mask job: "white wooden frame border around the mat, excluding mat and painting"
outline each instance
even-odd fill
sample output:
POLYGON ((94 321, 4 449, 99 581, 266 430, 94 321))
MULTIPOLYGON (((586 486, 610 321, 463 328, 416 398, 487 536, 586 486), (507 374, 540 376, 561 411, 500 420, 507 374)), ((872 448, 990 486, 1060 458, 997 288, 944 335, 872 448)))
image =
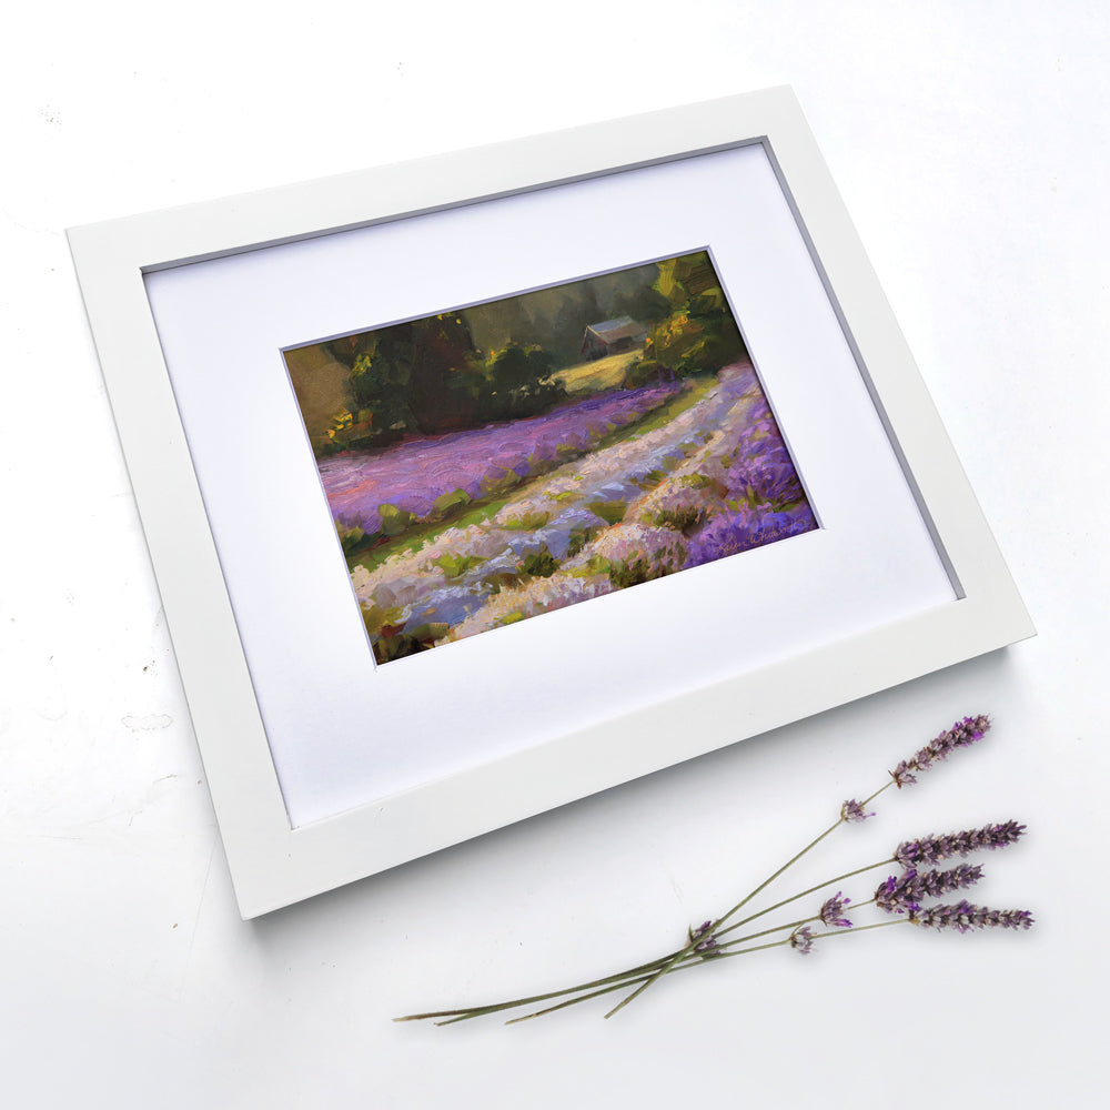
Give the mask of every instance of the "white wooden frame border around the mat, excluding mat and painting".
POLYGON ((244 918, 1035 634, 789 89, 74 228, 68 235, 244 918), (751 142, 765 143, 779 172, 960 599, 291 828, 143 274, 751 142), (703 727, 692 728, 692 720, 703 727), (710 722, 728 722, 727 734, 710 722))

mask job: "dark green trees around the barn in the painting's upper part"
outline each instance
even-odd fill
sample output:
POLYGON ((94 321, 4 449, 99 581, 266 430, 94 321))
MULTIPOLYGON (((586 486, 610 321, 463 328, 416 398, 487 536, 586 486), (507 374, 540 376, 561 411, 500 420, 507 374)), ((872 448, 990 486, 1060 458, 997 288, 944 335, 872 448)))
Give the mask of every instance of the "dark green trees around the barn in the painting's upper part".
POLYGON ((548 412, 583 333, 630 316, 648 332, 622 384, 719 370, 744 343, 705 251, 392 324, 325 344, 350 373, 350 411, 322 452, 371 448, 548 412))

